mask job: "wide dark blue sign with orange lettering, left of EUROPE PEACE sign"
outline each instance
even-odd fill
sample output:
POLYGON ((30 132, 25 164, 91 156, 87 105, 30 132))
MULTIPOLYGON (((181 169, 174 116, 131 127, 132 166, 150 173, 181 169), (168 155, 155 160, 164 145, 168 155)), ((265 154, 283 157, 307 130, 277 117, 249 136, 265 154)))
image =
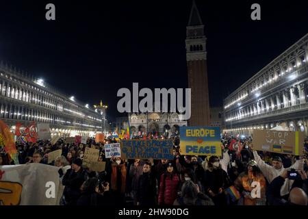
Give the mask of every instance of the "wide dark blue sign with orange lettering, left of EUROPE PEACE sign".
POLYGON ((123 159, 173 159, 172 140, 122 140, 123 159))

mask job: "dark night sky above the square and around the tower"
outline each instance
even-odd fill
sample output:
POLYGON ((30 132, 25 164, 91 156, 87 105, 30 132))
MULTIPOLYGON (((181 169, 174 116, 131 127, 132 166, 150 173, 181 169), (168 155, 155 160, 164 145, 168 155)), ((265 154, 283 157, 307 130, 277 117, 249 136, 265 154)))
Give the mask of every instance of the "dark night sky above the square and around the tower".
MULTIPOLYGON (((116 110, 116 92, 187 88, 192 1, 0 1, 0 60, 84 103, 116 110), (55 4, 56 20, 45 19, 55 4)), ((308 1, 201 1, 211 106, 308 32, 308 1), (214 3, 215 2, 215 3, 214 3), (251 4, 261 21, 251 20, 251 4)))

